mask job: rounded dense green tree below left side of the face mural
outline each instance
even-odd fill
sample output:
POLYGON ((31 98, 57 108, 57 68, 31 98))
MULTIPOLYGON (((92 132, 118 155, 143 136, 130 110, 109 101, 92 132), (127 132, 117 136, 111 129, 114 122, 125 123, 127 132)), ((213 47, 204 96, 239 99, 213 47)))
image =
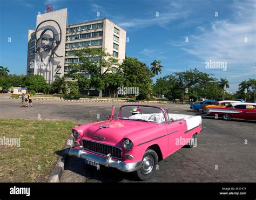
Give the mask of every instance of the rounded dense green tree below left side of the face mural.
POLYGON ((25 81, 25 86, 28 87, 29 91, 35 92, 44 92, 45 88, 48 87, 42 75, 30 75, 25 81))

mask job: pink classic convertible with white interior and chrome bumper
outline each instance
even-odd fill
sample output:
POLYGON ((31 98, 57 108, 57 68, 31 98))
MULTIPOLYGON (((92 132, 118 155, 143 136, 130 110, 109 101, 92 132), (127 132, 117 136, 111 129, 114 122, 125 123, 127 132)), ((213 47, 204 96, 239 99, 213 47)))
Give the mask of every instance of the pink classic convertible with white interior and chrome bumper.
POLYGON ((157 106, 122 106, 117 119, 113 115, 114 106, 108 120, 73 128, 75 147, 69 155, 147 180, 157 170, 158 161, 183 146, 196 146, 201 132, 201 116, 172 114, 157 106))

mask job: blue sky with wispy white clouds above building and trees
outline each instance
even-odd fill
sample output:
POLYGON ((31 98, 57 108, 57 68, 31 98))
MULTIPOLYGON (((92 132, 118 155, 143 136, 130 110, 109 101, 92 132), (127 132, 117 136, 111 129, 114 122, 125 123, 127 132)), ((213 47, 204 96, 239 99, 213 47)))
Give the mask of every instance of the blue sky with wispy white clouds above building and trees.
POLYGON ((147 66, 161 60, 164 68, 154 81, 197 68, 227 78, 227 90, 235 92, 239 82, 256 78, 255 1, 250 0, 2 0, 0 65, 10 74, 26 74, 28 30, 36 28, 36 15, 46 4, 68 8, 68 24, 109 18, 122 26, 126 56, 147 66), (216 63, 221 68, 214 68, 216 63))

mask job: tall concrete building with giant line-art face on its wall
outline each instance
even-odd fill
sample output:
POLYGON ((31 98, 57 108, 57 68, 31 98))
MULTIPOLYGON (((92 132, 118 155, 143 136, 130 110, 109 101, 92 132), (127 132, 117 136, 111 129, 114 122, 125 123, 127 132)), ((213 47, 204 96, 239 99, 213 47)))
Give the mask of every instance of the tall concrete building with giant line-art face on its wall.
POLYGON ((68 25, 68 9, 61 9, 37 15, 36 27, 29 30, 27 75, 43 75, 47 82, 79 63, 75 50, 85 46, 103 48, 119 63, 125 58, 126 31, 109 19, 68 25))

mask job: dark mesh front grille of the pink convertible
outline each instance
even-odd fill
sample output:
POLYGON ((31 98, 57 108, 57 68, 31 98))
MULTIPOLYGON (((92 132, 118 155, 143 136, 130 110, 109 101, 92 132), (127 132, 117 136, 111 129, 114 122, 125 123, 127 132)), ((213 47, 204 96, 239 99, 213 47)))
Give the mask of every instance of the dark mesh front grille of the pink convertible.
POLYGON ((92 151, 94 153, 102 155, 111 154, 113 158, 122 158, 122 149, 119 147, 114 147, 108 144, 93 142, 89 140, 83 140, 83 146, 86 150, 92 151))

